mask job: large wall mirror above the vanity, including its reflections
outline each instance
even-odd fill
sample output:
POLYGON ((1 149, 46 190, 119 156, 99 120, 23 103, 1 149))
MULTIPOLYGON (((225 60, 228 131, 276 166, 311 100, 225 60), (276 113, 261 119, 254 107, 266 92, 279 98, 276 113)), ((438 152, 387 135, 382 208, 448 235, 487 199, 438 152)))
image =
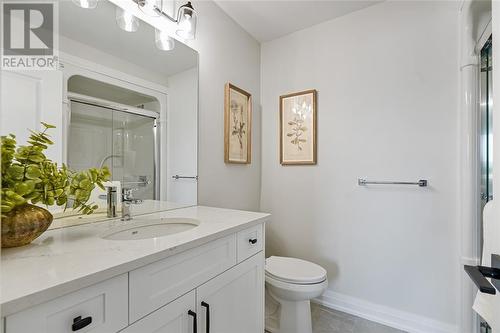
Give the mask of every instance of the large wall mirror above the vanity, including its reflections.
MULTIPOLYGON (((116 218, 122 189, 132 215, 197 204, 198 54, 177 40, 158 47, 155 29, 129 16, 109 1, 62 1, 60 70, 2 75, 2 135, 22 143, 26 128, 56 125, 47 156, 76 171, 107 166, 116 218)), ((91 201, 90 216, 51 207, 52 227, 108 218, 106 190, 91 201)))

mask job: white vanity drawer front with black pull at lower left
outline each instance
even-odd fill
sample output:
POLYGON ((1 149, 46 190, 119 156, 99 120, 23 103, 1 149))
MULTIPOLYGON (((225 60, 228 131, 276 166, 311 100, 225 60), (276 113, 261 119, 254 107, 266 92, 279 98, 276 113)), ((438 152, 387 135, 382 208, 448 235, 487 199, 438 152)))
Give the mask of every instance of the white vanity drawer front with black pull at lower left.
POLYGON ((128 324, 127 282, 123 274, 10 315, 5 333, 117 332, 128 324))

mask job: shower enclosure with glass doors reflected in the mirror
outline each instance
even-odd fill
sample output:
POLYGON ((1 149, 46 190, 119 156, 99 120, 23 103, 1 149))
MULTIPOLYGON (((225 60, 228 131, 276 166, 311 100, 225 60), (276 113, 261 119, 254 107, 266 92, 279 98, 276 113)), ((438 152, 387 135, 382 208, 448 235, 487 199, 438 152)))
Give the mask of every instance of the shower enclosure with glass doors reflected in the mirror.
POLYGON ((68 80, 68 97, 68 166, 77 171, 106 166, 111 181, 136 188, 143 200, 159 200, 159 101, 79 75, 68 80))

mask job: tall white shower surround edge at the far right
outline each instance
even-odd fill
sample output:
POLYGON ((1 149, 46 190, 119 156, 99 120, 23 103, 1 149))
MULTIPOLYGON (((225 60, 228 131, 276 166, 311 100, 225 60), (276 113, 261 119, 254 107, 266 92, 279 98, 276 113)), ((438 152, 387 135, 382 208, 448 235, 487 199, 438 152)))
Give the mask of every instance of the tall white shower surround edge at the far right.
POLYGON ((460 171, 457 177, 460 203, 460 332, 479 332, 479 316, 472 310, 477 288, 463 265, 480 264, 480 161, 479 70, 481 49, 492 33, 491 2, 462 0, 460 4, 460 171))

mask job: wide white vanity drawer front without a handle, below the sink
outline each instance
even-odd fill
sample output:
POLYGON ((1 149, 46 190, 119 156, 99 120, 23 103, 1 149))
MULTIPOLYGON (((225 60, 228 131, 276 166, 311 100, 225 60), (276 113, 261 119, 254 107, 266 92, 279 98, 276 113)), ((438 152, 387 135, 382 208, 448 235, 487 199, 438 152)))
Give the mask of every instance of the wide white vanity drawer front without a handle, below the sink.
POLYGON ((131 271, 130 323, 234 265, 236 237, 230 235, 131 271))

